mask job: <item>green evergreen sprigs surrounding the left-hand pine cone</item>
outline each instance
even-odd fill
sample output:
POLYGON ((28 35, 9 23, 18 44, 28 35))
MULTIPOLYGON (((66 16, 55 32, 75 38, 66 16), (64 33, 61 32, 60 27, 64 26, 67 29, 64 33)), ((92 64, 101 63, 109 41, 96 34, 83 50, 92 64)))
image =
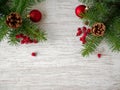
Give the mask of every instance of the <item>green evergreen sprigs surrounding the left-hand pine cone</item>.
POLYGON ((44 0, 0 0, 0 41, 7 37, 11 45, 16 45, 20 42, 16 38, 18 34, 24 34, 37 41, 46 40, 46 33, 26 17, 31 7, 42 1, 44 0), (14 29, 7 26, 6 17, 11 12, 22 16, 21 27, 14 29))

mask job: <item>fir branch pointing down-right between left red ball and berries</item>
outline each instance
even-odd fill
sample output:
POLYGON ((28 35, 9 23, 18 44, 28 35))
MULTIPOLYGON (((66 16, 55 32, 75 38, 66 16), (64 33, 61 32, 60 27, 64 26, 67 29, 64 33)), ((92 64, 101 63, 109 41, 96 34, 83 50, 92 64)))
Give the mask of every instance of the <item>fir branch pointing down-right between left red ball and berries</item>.
POLYGON ((29 36, 31 39, 36 39, 38 41, 46 40, 45 32, 39 29, 36 24, 33 24, 27 19, 23 21, 23 25, 20 28, 20 32, 29 36))

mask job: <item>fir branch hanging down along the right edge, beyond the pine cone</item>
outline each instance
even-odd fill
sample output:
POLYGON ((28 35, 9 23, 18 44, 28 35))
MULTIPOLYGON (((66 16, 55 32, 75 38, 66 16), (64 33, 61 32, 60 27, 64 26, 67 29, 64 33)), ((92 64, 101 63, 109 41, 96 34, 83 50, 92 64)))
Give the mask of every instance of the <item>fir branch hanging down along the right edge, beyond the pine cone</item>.
POLYGON ((112 51, 120 51, 120 17, 114 17, 109 24, 106 40, 112 51))

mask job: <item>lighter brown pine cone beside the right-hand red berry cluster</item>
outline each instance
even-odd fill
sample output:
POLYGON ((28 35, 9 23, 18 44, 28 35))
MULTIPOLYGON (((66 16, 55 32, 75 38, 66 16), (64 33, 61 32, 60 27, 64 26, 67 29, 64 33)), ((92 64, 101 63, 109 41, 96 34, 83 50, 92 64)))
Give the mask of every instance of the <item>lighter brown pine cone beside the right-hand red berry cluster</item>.
POLYGON ((106 29, 106 27, 105 27, 105 25, 103 23, 95 23, 92 26, 91 33, 94 36, 103 36, 104 32, 105 32, 105 29, 106 29))

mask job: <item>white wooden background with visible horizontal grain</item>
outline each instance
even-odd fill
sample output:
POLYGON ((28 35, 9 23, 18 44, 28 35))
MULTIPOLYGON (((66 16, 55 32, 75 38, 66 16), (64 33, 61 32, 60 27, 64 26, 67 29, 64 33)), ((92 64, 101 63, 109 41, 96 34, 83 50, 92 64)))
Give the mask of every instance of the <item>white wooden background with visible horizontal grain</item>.
POLYGON ((0 43, 0 90, 120 90, 120 53, 111 53, 104 42, 104 56, 83 58, 75 36, 82 27, 74 14, 77 0, 46 0, 33 8, 44 13, 39 25, 48 41, 10 46, 0 43), (31 52, 37 52, 32 57, 31 52))

